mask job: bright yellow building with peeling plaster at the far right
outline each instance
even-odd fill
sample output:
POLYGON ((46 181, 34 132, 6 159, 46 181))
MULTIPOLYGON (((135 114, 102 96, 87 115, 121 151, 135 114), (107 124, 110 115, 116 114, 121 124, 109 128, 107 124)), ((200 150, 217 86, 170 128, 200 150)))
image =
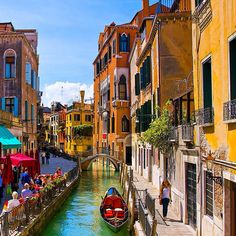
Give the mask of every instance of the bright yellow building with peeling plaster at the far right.
POLYGON ((196 133, 203 165, 204 235, 236 234, 236 1, 192 0, 196 133), (223 183, 217 183, 217 179, 223 183), (233 209, 233 210, 231 210, 233 209))

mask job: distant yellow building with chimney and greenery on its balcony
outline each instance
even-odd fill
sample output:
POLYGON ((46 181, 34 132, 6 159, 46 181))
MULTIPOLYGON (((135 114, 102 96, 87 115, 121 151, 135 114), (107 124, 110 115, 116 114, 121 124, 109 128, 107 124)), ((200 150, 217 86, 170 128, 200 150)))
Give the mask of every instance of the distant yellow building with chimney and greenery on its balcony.
POLYGON ((81 101, 74 102, 66 113, 66 145, 69 155, 88 156, 93 146, 93 105, 84 103, 84 91, 80 91, 81 101))

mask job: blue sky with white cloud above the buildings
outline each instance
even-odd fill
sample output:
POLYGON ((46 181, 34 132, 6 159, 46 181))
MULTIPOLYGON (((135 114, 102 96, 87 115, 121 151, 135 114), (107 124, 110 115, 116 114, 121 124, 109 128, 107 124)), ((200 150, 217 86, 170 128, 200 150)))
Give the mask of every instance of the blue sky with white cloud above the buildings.
MULTIPOLYGON (((149 0, 150 4, 157 0, 149 0)), ((37 29, 44 106, 93 97, 93 60, 105 25, 129 22, 142 0, 11 0, 1 2, 0 22, 37 29)))

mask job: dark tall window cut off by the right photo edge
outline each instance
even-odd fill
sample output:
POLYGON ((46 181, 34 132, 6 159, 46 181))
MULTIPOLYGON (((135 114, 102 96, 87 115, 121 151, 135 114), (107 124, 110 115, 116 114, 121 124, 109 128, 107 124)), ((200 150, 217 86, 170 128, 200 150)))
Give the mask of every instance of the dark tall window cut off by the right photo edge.
POLYGON ((230 55, 230 100, 236 99, 236 38, 229 43, 230 55))

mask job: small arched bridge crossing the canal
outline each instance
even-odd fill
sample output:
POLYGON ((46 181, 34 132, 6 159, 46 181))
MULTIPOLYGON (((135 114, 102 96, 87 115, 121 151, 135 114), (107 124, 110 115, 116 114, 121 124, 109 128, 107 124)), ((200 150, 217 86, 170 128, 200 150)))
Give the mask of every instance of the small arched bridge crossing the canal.
POLYGON ((88 170, 90 164, 92 162, 94 162, 95 160, 98 160, 99 158, 104 158, 104 159, 109 160, 111 162, 111 164, 113 164, 115 170, 116 171, 119 170, 121 161, 118 160, 117 158, 114 158, 113 156, 110 156, 109 154, 106 154, 106 153, 95 154, 93 156, 89 156, 89 157, 86 157, 83 160, 81 160, 82 170, 88 170))

